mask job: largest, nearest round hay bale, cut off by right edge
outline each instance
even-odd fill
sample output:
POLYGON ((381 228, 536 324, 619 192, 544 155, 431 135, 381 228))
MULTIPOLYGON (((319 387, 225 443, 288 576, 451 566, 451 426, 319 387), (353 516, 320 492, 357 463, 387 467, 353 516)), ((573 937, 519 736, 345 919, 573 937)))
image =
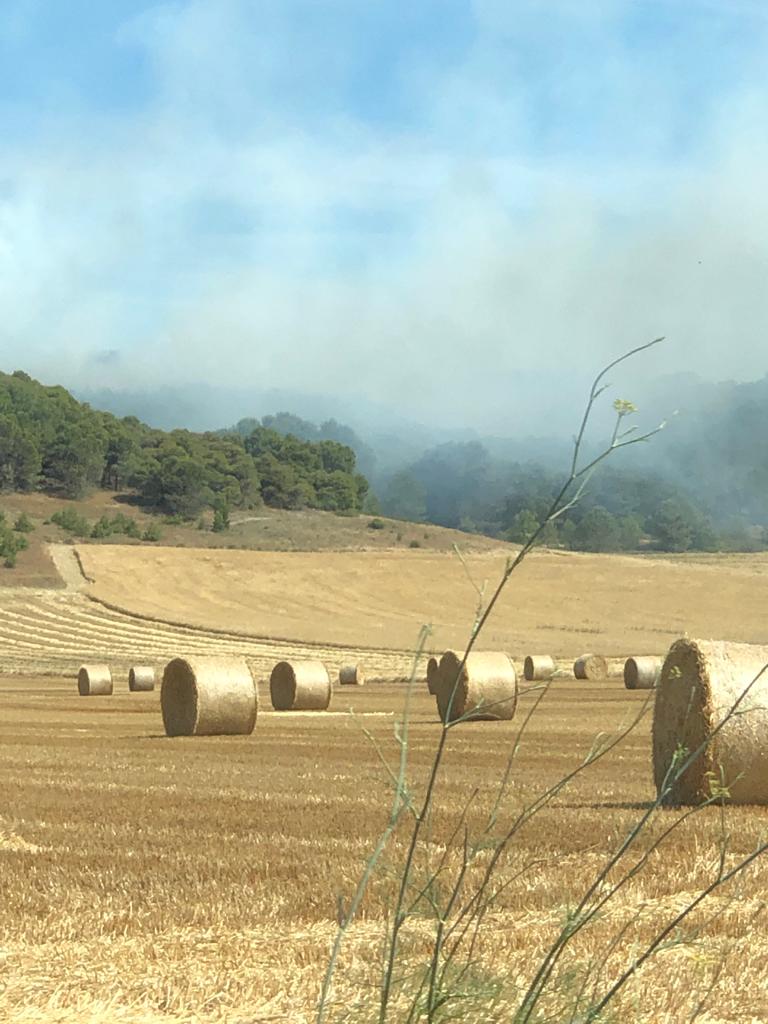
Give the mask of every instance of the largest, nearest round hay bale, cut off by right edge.
POLYGON ((653 709, 657 793, 665 787, 676 751, 702 751, 672 783, 665 803, 700 803, 713 794, 713 784, 722 782, 731 803, 768 804, 768 672, 715 731, 766 664, 768 647, 688 639, 672 645, 653 709))

